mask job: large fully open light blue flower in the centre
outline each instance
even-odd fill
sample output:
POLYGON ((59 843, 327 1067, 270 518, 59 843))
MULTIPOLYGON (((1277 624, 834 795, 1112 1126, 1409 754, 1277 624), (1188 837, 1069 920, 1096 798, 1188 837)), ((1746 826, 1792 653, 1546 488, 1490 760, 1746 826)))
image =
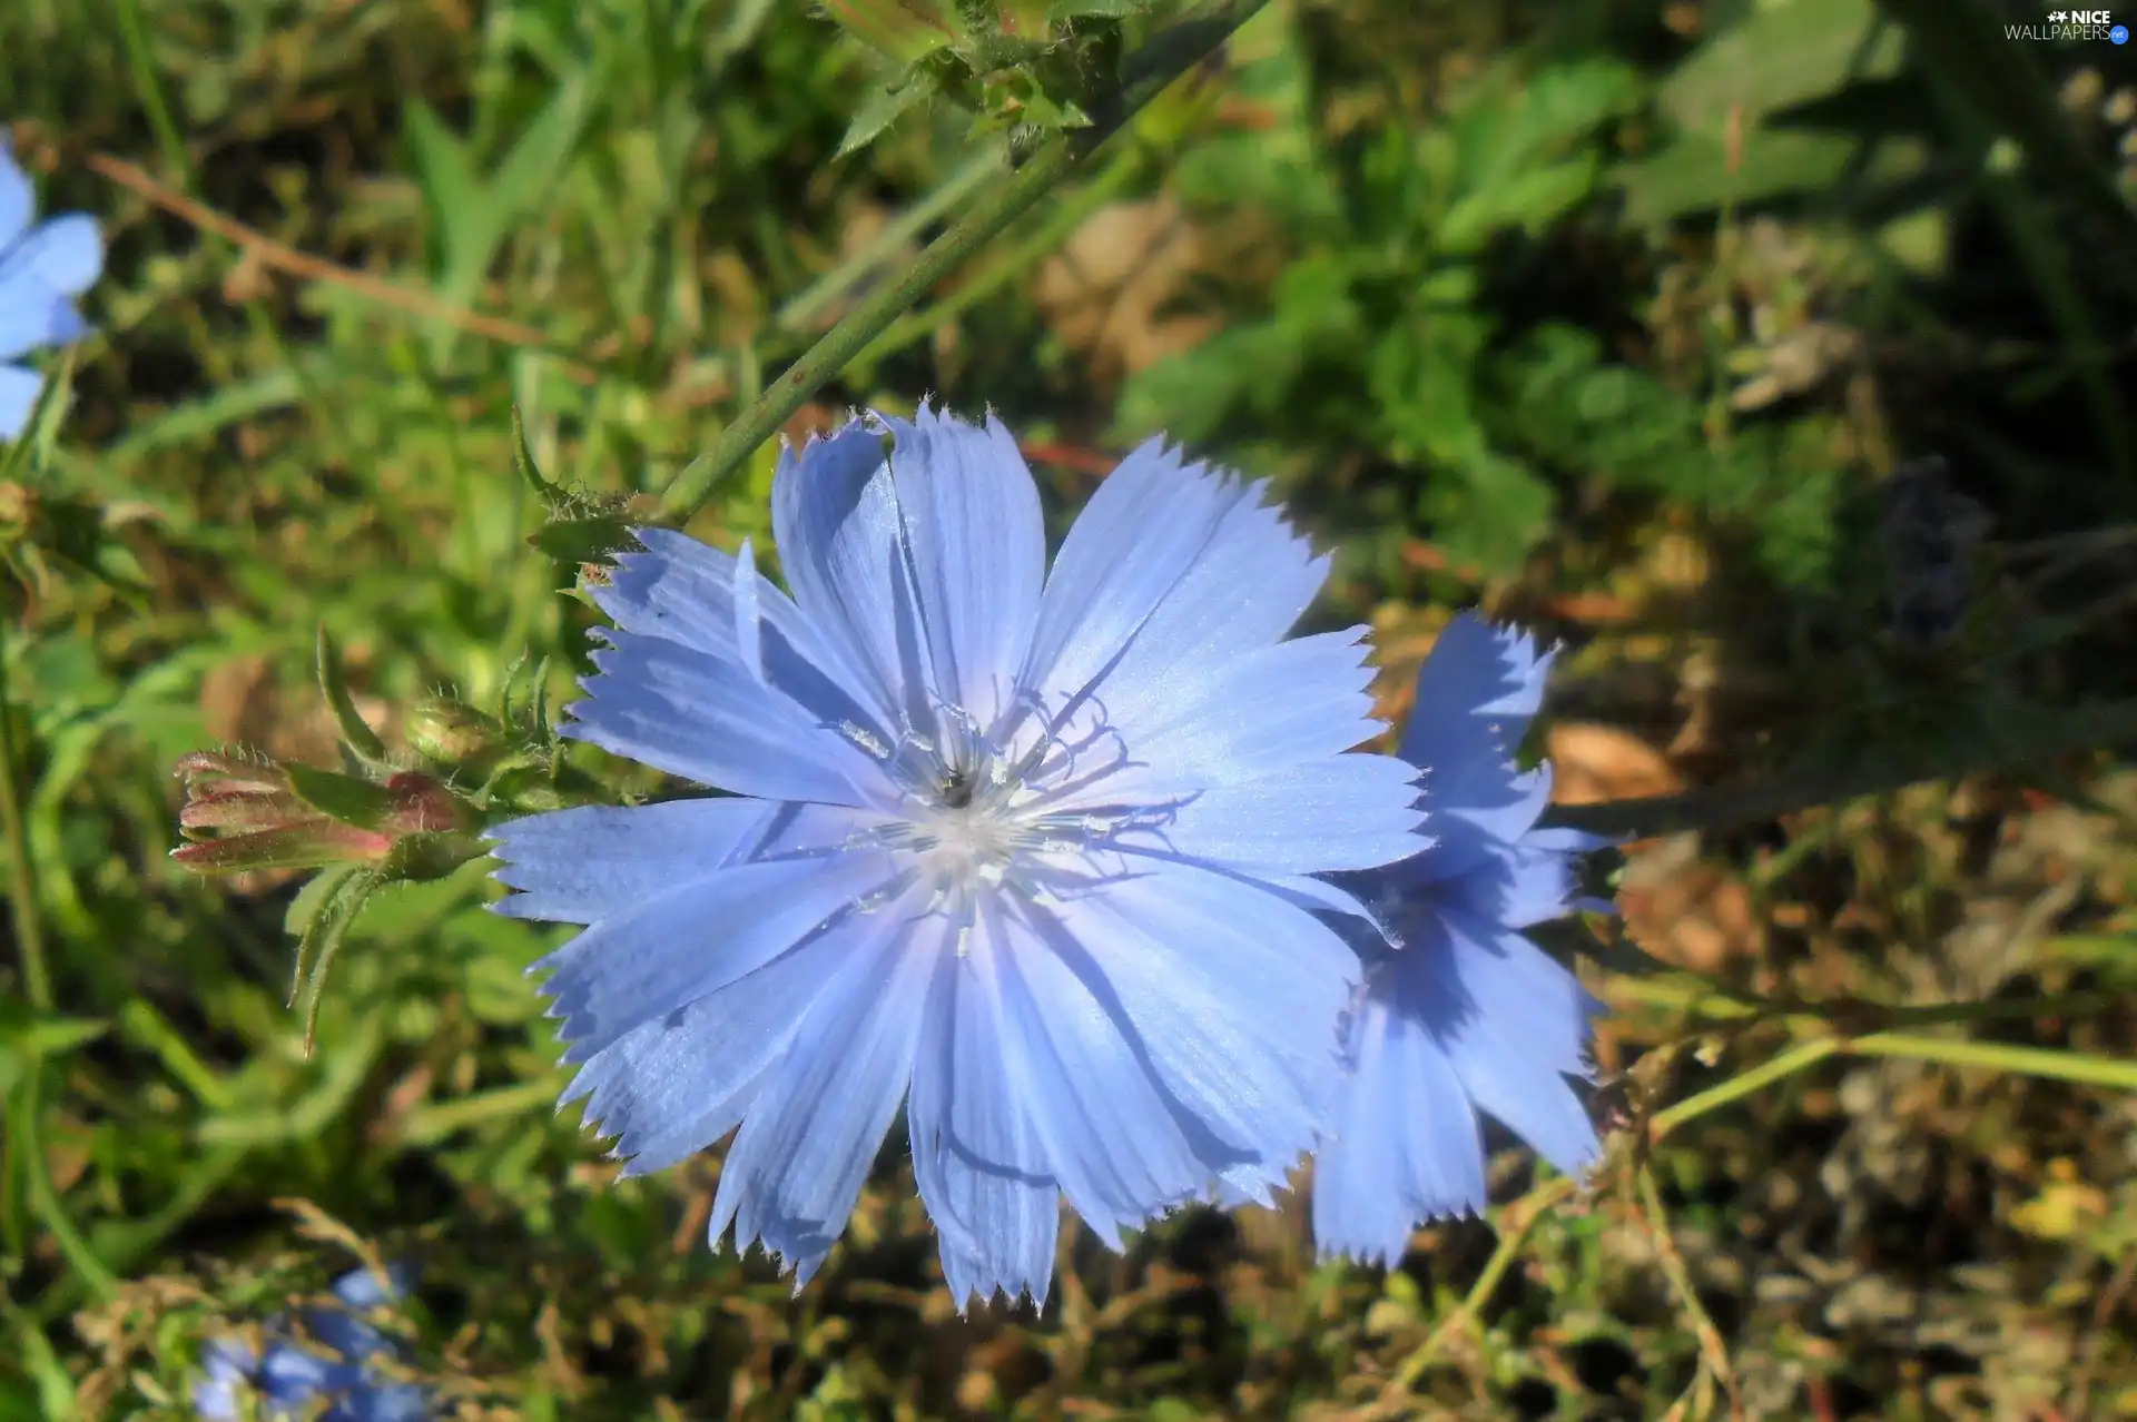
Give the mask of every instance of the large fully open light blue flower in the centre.
POLYGON ((789 598, 643 530, 566 730, 733 799, 494 831, 551 974, 566 1100, 628 1174, 742 1127, 712 1238, 797 1287, 900 1106, 960 1307, 1045 1300, 1060 1198, 1107 1245, 1265 1200, 1327 1121, 1357 957, 1314 873, 1415 850, 1361 630, 1261 485, 1128 455, 1047 574, 1000 423, 930 410, 789 451, 789 598), (885 438, 893 442, 885 451, 885 438))

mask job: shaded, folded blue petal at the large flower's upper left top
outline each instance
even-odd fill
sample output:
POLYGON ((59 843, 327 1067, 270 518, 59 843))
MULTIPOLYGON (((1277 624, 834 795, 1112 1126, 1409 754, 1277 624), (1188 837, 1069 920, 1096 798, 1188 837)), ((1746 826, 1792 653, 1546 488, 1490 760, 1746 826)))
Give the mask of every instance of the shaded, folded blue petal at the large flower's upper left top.
POLYGON ((902 523, 874 427, 853 423, 780 455, 771 532, 795 604, 883 724, 927 726, 934 681, 902 523))

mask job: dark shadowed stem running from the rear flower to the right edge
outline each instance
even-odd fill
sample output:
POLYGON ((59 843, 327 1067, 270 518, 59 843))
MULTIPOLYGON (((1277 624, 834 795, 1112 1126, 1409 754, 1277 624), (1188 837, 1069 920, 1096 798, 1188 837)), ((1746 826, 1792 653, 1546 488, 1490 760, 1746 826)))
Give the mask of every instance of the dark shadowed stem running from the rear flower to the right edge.
POLYGON ((1588 831, 1605 839, 1654 839, 1688 831, 1727 828, 1774 820, 1816 805, 1838 805, 1872 794, 1893 794, 1932 779, 1953 779, 2032 760, 2054 760, 2071 752, 2137 741, 2137 700, 2111 700, 2075 711, 2043 711, 2022 741, 1990 747, 1975 764, 1951 764, 1936 747, 1891 747, 1874 764, 1853 764, 1799 779, 1759 786, 1652 794, 1603 805, 1558 805, 1543 822, 1588 831))

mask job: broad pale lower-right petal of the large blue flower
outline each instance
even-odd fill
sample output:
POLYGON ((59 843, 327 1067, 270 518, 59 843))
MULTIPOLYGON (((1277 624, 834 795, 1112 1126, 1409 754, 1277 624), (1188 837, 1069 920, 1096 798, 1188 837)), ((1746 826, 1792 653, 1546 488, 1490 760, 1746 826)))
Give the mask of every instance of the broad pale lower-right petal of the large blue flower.
MULTIPOLYGON (((1192 867, 1109 882, 1054 914, 1088 954, 1064 961, 1184 1123, 1199 1183, 1280 1187, 1329 1125, 1351 948, 1306 910, 1192 867)), ((1143 1129, 1126 1100, 1111 1104, 1143 1129)))

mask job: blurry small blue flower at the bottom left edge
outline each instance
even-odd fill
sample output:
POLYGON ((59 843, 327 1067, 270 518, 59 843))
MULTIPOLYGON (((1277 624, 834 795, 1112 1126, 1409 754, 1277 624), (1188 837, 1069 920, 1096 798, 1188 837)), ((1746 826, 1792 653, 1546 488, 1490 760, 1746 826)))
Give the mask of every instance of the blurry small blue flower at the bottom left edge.
POLYGON ((267 1324, 265 1356, 241 1339, 216 1339, 201 1356, 207 1375, 192 1388, 194 1411, 214 1422, 312 1418, 314 1401, 325 1401, 318 1422, 430 1418, 423 1388, 380 1377, 376 1360, 389 1358, 393 1345, 361 1317, 406 1292, 406 1270, 393 1268, 380 1285, 378 1275, 359 1268, 333 1285, 340 1309, 303 1309, 297 1315, 306 1343, 291 1339, 280 1320, 267 1324), (246 1413, 246 1399, 256 1399, 256 1413, 246 1413))

